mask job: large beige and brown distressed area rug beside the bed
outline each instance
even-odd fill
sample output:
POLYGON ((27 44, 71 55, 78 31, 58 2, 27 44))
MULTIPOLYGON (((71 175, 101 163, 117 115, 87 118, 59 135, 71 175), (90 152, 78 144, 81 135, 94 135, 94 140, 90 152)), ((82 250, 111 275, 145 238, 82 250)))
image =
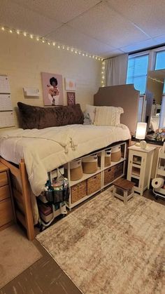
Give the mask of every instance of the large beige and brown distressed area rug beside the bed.
POLYGON ((37 236, 87 294, 165 293, 165 206, 102 192, 37 236))

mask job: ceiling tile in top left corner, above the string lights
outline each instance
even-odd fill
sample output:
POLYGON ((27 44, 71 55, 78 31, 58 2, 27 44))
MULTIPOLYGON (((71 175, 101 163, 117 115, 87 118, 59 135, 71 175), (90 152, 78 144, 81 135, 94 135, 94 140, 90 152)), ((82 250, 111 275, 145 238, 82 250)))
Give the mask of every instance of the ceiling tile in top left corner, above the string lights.
POLYGON ((25 30, 31 34, 44 36, 62 24, 45 18, 38 13, 22 8, 12 0, 1 0, 0 23, 13 29, 25 30))

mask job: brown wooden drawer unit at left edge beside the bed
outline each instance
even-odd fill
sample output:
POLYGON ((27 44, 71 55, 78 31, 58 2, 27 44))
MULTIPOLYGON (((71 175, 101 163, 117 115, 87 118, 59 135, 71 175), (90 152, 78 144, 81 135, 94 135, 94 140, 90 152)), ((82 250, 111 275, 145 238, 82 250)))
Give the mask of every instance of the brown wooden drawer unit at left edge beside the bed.
POLYGON ((0 163, 0 230, 15 220, 15 211, 10 187, 9 169, 0 163))

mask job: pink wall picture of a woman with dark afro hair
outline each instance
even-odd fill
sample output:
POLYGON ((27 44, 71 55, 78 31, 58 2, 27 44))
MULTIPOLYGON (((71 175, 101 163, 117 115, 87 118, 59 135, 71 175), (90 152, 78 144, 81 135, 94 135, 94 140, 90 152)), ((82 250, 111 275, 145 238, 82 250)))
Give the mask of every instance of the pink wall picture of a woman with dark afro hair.
POLYGON ((43 102, 45 106, 64 105, 62 75, 41 72, 43 102))

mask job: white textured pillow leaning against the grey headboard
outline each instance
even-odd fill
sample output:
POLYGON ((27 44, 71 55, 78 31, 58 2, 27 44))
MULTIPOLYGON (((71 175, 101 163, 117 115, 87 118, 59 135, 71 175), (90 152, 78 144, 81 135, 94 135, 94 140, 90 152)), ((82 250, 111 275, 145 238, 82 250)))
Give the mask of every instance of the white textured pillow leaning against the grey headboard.
POLYGON ((94 125, 96 126, 119 126, 120 114, 124 113, 122 107, 100 106, 96 107, 94 125))

